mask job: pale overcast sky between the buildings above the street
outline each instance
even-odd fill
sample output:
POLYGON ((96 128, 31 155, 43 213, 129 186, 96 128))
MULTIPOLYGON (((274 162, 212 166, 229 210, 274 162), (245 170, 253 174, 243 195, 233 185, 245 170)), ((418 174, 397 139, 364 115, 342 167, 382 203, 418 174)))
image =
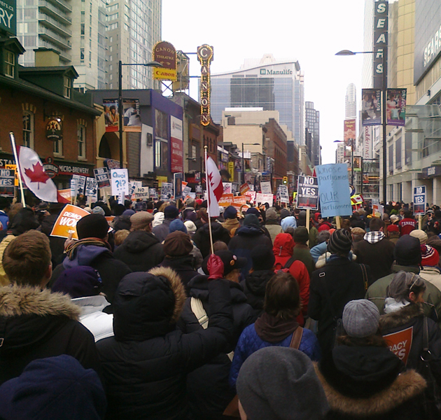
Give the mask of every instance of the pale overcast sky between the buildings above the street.
MULTIPOLYGON (((363 55, 336 57, 339 50, 363 51, 363 0, 162 0, 162 39, 177 50, 214 47, 211 71, 239 69, 245 58, 270 52, 298 59, 304 99, 320 111, 323 163, 335 162, 334 140, 343 137, 344 96, 349 83, 361 93, 363 55)), ((193 58, 190 74, 200 74, 193 58)), ((197 99, 197 79, 190 95, 197 99)), ((357 104, 358 106, 359 104, 357 104)))

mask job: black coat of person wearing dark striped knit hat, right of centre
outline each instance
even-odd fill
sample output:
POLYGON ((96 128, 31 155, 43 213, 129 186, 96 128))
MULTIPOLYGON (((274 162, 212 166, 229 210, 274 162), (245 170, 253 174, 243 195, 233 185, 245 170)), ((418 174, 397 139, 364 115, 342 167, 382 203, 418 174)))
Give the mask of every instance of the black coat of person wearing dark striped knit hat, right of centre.
MULTIPOLYGON (((365 268, 367 282, 372 284, 370 267, 365 268)), ((365 293, 362 267, 348 258, 332 255, 325 267, 312 273, 308 315, 318 321, 318 342, 323 354, 332 350, 344 305, 350 300, 363 299, 365 293)))

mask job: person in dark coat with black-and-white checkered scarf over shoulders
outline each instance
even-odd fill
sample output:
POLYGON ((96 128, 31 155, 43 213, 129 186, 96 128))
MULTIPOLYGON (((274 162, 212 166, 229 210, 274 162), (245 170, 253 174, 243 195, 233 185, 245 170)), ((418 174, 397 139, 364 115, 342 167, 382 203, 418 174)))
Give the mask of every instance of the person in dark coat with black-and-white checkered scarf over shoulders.
POLYGON ((395 245, 383 233, 384 221, 374 217, 369 223, 362 241, 353 244, 353 252, 357 255, 359 264, 370 266, 374 280, 391 274, 393 264, 393 248, 395 245))

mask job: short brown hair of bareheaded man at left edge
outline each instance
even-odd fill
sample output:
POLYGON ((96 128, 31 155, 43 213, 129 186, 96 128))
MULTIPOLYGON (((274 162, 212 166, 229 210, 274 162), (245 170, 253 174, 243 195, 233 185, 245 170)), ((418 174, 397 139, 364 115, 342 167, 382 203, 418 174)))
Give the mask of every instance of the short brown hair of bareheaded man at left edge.
POLYGON ((10 281, 38 286, 48 272, 51 258, 48 237, 38 230, 29 230, 6 246, 3 269, 10 281))

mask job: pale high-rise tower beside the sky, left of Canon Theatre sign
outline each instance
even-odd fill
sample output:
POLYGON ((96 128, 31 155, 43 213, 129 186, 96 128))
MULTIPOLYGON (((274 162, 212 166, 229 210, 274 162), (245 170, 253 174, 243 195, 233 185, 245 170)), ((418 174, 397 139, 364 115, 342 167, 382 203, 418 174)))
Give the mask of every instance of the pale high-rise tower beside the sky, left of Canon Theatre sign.
MULTIPOLYGON (((118 87, 118 62, 142 64, 152 61, 155 43, 161 38, 162 0, 116 0, 107 4, 107 60, 109 87, 118 87)), ((152 68, 123 67, 123 89, 158 87, 152 68)))

